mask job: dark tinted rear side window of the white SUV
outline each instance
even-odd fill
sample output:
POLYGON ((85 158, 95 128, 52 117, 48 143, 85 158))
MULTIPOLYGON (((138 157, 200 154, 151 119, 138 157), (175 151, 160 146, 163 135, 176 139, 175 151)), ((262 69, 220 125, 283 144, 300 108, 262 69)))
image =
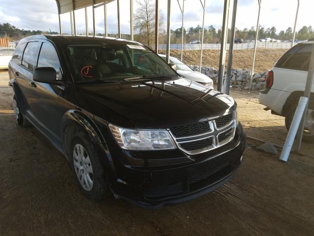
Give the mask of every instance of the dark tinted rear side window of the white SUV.
POLYGON ((286 52, 276 63, 275 67, 308 71, 313 44, 297 44, 286 52))

